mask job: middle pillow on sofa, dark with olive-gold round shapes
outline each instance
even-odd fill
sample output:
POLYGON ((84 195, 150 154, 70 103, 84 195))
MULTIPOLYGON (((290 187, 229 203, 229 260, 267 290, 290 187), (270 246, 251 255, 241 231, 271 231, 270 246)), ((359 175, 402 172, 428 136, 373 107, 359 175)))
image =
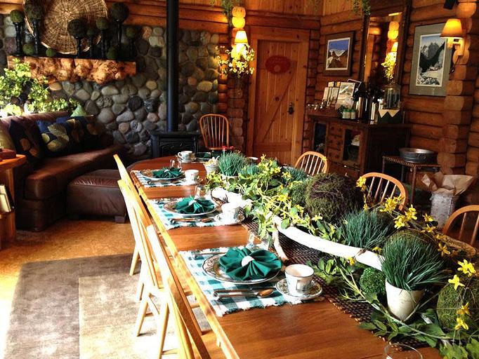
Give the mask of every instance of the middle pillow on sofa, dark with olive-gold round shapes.
POLYGON ((64 123, 37 121, 37 125, 48 156, 63 156, 70 153, 70 135, 64 123))

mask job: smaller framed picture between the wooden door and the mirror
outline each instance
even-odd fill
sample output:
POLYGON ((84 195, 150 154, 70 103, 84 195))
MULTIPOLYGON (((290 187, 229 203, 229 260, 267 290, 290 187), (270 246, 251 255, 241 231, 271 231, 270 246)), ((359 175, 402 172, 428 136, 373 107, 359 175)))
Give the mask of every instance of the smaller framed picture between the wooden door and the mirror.
POLYGON ((354 32, 334 34, 326 37, 324 74, 344 75, 351 73, 354 32))

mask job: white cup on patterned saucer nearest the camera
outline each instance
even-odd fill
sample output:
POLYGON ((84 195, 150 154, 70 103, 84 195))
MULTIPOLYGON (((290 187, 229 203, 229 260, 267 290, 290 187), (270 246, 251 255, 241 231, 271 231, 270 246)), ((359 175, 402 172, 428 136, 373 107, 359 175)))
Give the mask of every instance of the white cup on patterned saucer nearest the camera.
POLYGON ((284 271, 286 278, 276 283, 276 289, 289 299, 310 300, 322 294, 322 286, 313 280, 314 271, 305 264, 291 264, 284 271))

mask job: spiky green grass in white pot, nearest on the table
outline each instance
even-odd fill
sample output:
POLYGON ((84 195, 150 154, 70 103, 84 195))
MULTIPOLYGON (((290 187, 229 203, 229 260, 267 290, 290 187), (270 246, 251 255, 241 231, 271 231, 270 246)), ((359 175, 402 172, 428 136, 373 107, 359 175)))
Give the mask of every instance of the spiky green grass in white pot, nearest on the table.
POLYGON ((428 287, 444 280, 444 262, 435 245, 419 231, 393 234, 384 245, 381 270, 386 276, 388 310, 400 320, 407 320, 428 287))

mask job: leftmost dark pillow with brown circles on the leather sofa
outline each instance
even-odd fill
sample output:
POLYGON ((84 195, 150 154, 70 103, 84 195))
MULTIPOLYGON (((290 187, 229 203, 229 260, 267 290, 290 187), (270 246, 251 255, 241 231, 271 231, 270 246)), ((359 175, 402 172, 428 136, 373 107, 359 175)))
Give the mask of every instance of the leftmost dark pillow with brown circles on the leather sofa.
POLYGON ((36 126, 28 126, 27 121, 22 121, 20 118, 12 118, 8 132, 10 133, 15 149, 18 154, 27 156, 29 163, 34 168, 41 165, 43 159, 43 151, 41 151, 41 137, 36 126))

